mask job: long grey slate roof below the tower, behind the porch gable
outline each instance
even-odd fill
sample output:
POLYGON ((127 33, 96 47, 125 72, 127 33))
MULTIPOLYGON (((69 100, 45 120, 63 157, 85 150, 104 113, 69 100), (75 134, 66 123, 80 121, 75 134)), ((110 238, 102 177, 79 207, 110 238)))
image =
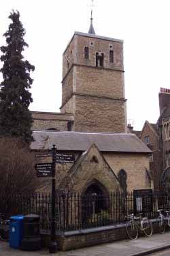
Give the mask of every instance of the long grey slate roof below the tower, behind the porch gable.
POLYGON ((33 131, 33 138, 32 150, 48 150, 55 143, 61 151, 86 151, 95 143, 102 152, 152 152, 135 134, 127 133, 33 131))

